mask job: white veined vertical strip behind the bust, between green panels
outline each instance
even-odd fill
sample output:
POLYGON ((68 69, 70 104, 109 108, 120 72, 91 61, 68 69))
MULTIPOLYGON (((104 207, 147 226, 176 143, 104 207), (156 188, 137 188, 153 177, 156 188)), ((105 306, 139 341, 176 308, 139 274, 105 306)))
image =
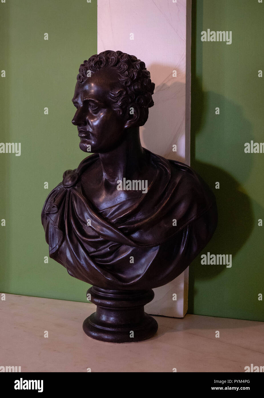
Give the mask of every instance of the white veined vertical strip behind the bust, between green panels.
MULTIPOLYGON (((154 107, 141 127, 142 145, 189 164, 191 0, 98 0, 97 4, 98 53, 120 50, 135 55, 145 62, 156 85, 154 107), (177 152, 173 151, 175 144, 177 152)), ((186 269, 168 285, 154 289, 155 298, 145 306, 146 311, 183 317, 188 274, 186 269)))

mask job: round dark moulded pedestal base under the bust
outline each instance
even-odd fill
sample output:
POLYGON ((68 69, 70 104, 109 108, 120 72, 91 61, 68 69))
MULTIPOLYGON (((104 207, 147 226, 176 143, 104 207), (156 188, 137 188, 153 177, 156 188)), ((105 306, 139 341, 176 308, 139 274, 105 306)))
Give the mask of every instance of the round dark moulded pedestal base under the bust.
POLYGON ((144 305, 154 298, 152 290, 117 291, 93 286, 88 294, 96 312, 83 322, 87 336, 109 343, 133 343, 157 332, 156 320, 144 312, 144 305))

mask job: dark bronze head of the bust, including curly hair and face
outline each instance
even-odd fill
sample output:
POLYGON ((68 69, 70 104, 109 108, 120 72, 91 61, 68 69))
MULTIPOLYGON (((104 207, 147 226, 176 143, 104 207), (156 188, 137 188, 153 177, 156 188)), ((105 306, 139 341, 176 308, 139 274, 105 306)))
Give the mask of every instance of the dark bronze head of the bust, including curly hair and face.
POLYGON ((104 153, 124 139, 125 130, 143 126, 154 105, 155 84, 145 63, 121 51, 92 55, 79 68, 72 123, 78 126, 81 150, 104 153))

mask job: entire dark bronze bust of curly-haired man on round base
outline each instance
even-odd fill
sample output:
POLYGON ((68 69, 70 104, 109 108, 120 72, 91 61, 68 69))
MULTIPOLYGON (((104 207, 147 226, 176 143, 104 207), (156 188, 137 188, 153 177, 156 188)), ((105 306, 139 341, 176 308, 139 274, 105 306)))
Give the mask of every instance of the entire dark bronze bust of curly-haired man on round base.
POLYGON ((103 341, 156 333, 144 312, 151 289, 182 273, 217 225, 216 200, 202 178, 141 146, 154 87, 145 63, 121 51, 81 64, 72 123, 81 150, 93 154, 64 172, 42 209, 50 257, 93 285, 87 293, 97 310, 83 329, 103 341))

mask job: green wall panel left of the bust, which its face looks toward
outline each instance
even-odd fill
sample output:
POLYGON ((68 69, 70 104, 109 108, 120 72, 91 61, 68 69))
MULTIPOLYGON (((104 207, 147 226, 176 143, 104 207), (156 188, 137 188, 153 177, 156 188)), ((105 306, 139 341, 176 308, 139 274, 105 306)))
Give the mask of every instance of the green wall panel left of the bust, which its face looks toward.
POLYGON ((0 291, 85 301, 86 283, 50 258, 44 263, 40 213, 63 172, 84 157, 71 98, 79 65, 97 53, 97 4, 6 0, 0 18, 0 142, 21 142, 21 156, 0 154, 0 291))

